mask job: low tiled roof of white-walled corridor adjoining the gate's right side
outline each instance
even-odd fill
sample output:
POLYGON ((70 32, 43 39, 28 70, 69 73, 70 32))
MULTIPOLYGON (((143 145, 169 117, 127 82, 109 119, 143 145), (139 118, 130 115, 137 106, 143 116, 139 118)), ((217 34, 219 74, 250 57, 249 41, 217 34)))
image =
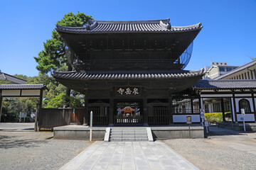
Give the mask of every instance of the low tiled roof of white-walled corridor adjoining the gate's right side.
POLYGON ((256 80, 199 80, 193 89, 256 89, 256 80))

